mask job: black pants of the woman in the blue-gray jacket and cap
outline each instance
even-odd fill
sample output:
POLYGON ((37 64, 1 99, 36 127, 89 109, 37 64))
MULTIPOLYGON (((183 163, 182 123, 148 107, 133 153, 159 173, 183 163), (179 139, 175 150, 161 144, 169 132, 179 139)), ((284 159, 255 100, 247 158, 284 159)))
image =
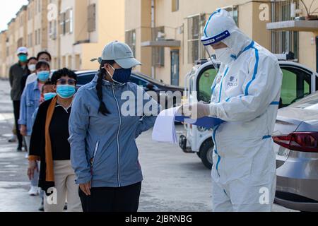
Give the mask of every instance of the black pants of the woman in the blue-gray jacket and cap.
POLYGON ((141 182, 119 188, 90 189, 90 196, 79 189, 83 212, 137 212, 141 182))

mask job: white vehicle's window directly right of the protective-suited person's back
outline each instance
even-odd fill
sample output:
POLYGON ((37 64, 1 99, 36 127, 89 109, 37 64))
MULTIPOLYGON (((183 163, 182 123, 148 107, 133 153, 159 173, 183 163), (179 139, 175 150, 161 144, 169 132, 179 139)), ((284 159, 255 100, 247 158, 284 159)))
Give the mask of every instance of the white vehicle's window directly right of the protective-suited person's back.
POLYGON ((287 107, 302 97, 310 95, 310 73, 292 67, 282 67, 281 71, 283 72, 283 83, 280 107, 287 107))

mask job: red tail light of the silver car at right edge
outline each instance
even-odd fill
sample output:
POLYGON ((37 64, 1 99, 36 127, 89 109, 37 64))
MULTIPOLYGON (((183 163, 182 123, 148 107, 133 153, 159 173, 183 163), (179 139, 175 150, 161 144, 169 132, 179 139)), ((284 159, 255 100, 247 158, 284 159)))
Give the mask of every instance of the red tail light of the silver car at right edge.
POLYGON ((318 132, 294 132, 287 136, 273 136, 273 141, 290 150, 318 153, 318 132))

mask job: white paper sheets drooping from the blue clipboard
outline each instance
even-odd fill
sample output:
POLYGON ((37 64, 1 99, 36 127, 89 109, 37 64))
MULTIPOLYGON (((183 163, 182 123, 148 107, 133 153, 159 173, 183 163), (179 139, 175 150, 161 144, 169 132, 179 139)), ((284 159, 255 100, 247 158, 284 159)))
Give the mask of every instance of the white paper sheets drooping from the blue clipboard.
POLYGON ((174 107, 160 112, 153 126, 154 141, 177 143, 175 116, 179 109, 180 107, 174 107))

